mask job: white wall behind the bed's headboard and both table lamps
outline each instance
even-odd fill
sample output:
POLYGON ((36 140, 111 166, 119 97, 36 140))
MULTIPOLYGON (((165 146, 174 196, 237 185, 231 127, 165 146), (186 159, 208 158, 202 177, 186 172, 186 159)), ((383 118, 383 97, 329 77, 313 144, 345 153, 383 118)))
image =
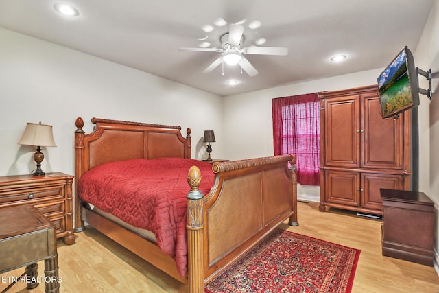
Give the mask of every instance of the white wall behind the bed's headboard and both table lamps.
POLYGON ((215 130, 215 157, 225 143, 221 97, 2 28, 0 99, 0 176, 35 169, 34 148, 17 144, 27 122, 54 126, 44 172, 74 174, 76 117, 87 133, 92 117, 190 127, 195 159, 206 156, 204 130, 215 130))

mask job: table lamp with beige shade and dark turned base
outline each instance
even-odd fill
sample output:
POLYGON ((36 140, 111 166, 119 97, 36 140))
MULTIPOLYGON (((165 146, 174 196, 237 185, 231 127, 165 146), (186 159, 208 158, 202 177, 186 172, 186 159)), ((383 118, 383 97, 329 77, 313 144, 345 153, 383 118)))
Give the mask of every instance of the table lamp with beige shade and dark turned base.
POLYGON ((34 154, 36 170, 32 173, 32 176, 43 176, 45 173, 41 169, 41 162, 43 162, 44 154, 41 152, 40 146, 56 146, 52 126, 41 124, 41 122, 40 124, 27 123, 19 145, 36 146, 36 153, 34 154))

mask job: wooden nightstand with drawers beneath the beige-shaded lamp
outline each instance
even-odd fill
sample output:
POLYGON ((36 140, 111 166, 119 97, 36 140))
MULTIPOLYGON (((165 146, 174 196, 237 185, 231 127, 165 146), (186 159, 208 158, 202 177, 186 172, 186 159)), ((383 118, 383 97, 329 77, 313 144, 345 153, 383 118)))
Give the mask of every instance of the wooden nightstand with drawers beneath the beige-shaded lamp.
POLYGON ((0 176, 0 209, 32 204, 56 226, 56 237, 75 243, 73 234, 73 176, 46 173, 45 176, 0 176))

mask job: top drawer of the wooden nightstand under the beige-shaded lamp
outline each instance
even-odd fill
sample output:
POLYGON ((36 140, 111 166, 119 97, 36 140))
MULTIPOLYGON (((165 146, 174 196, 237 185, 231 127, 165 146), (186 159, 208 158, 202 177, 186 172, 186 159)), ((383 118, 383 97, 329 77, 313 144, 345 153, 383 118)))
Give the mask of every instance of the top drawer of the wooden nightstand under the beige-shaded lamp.
POLYGON ((27 190, 11 190, 0 193, 0 206, 14 202, 15 204, 39 202, 49 198, 64 198, 63 186, 56 186, 50 189, 47 188, 32 188, 27 190))

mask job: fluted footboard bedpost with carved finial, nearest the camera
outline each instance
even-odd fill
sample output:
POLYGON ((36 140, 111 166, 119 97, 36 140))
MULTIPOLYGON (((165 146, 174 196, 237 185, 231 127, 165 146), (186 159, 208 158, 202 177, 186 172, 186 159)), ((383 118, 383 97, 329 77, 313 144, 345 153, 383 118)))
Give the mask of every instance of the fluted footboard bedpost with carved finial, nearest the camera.
POLYGON ((187 183, 191 191, 187 194, 187 270, 190 293, 204 292, 203 268, 203 196, 198 189, 201 172, 192 166, 187 174, 187 183))

